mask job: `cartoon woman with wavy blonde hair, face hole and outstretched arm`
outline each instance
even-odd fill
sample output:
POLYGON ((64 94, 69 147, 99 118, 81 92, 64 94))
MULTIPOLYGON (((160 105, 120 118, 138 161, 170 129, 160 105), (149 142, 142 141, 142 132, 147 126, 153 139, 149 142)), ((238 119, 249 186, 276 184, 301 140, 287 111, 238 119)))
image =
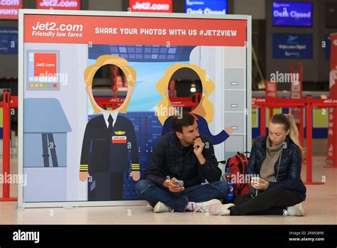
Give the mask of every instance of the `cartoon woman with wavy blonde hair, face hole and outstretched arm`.
MULTIPOLYGON (((196 122, 198 123, 198 129, 200 134, 208 136, 213 144, 220 144, 232 134, 232 127, 226 127, 219 134, 213 135, 210 133, 210 129, 208 128, 208 124, 213 121, 214 108, 213 104, 208 100, 208 97, 213 92, 215 85, 212 80, 208 78, 205 74, 205 70, 199 68, 197 65, 192 64, 182 64, 177 63, 172 65, 166 70, 166 74, 164 77, 159 80, 156 84, 156 88, 163 97, 161 102, 156 107, 156 112, 161 124, 163 124, 163 129, 161 131, 161 135, 167 134, 173 131, 171 126, 171 118, 173 115, 181 114, 179 110, 173 106, 169 95, 172 95, 172 92, 169 92, 169 82, 172 79, 175 79, 177 74, 188 74, 186 72, 190 72, 191 77, 195 80, 198 77, 198 80, 201 82, 201 86, 203 87, 204 97, 201 97, 198 106, 193 109, 190 113, 193 114, 196 122), (182 71, 185 70, 185 73, 182 71), (193 75, 194 74, 194 75, 193 75), (163 111, 164 109, 164 111, 163 111)), ((172 90, 172 87, 170 87, 172 90)))

